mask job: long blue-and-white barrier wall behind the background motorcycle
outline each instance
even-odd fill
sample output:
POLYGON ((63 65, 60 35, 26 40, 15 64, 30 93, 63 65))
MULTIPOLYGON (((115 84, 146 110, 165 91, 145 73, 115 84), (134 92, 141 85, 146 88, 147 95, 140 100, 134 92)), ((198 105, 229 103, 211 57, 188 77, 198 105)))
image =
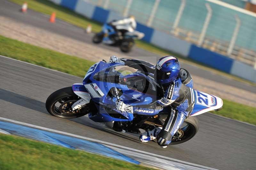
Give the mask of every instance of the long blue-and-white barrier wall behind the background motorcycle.
MULTIPOLYGON (((100 23, 109 22, 113 19, 122 19, 123 17, 116 12, 105 10, 101 7, 92 5, 84 0, 50 0, 55 4, 60 4, 66 8, 84 15, 89 19, 100 23)), ((58 15, 58 14, 57 14, 58 15)), ((138 31, 143 32, 145 36, 142 40, 159 46, 165 50, 170 50, 184 57, 191 58, 207 66, 211 66, 226 73, 242 77, 249 81, 256 82, 256 70, 244 63, 228 58, 210 50, 197 47, 177 37, 165 32, 155 30, 151 27, 137 23, 138 31)))

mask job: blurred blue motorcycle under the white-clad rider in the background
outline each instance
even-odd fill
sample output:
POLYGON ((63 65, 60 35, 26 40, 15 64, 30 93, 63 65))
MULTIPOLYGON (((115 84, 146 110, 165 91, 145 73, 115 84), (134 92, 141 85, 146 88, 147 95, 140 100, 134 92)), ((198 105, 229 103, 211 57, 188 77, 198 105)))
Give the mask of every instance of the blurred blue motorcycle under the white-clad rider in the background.
POLYGON ((135 39, 141 39, 144 34, 139 31, 128 32, 116 30, 110 23, 105 23, 102 30, 92 37, 93 43, 104 43, 112 46, 119 46, 123 52, 130 52, 135 39))

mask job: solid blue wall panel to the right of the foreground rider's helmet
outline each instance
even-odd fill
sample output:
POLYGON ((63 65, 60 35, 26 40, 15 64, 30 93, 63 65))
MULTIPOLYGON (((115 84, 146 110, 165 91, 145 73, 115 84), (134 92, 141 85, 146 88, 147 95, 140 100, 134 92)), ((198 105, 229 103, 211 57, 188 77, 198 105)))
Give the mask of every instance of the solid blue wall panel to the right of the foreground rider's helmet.
POLYGON ((231 58, 197 47, 196 45, 191 45, 188 56, 200 63, 212 66, 213 68, 217 68, 226 73, 230 73, 234 62, 231 58))

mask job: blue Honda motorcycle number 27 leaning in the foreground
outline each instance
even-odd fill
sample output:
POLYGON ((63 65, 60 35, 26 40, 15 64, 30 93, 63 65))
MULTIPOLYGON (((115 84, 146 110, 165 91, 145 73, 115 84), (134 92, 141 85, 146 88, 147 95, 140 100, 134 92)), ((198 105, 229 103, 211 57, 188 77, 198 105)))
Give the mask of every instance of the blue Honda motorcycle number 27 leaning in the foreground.
MULTIPOLYGON (((170 106, 156 113, 150 109, 135 109, 138 105, 152 104, 163 95, 163 90, 154 81, 150 73, 139 71, 129 73, 123 63, 100 61, 90 67, 83 83, 53 92, 46 100, 47 111, 56 117, 71 119, 88 117, 119 132, 140 134, 156 127, 163 127, 171 112, 170 106), (122 99, 133 110, 116 110, 115 102, 122 99)), ((172 137, 171 145, 188 141, 196 135, 199 121, 196 115, 208 111, 217 111, 222 107, 219 97, 191 89, 195 98, 193 112, 172 137)))

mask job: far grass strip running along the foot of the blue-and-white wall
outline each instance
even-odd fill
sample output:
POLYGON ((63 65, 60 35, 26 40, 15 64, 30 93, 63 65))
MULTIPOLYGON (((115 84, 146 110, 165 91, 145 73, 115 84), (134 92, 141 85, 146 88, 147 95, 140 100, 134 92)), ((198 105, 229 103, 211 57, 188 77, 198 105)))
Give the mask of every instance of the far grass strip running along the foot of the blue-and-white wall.
MULTIPOLYGON (((22 5, 24 3, 24 1, 21 1, 21 0, 9 0, 9 1, 14 2, 16 4, 20 4, 20 5, 22 5)), ((48 0, 26 0, 26 2, 28 2, 28 8, 32 9, 36 12, 41 12, 41 13, 48 14, 48 15, 51 15, 52 12, 56 12, 57 18, 62 19, 63 21, 66 21, 70 24, 76 25, 81 28, 86 28, 88 26, 88 24, 91 24, 93 32, 100 32, 100 30, 101 30, 101 24, 99 22, 95 22, 91 19, 87 19, 84 16, 79 15, 74 11, 71 11, 65 7, 60 6, 60 5, 56 5, 48 0)), ((156 53, 160 56, 174 55, 174 56, 177 56, 179 58, 179 60, 182 62, 186 62, 188 64, 192 64, 194 66, 201 67, 205 70, 209 70, 209 71, 212 71, 219 75, 229 77, 236 81, 241 81, 244 83, 248 83, 252 86, 256 86, 256 83, 253 83, 251 81, 244 80, 244 79, 236 77, 234 75, 216 70, 216 69, 206 66, 202 63, 198 63, 189 58, 185 58, 177 53, 173 53, 172 51, 164 50, 164 49, 157 47, 155 45, 152 45, 150 43, 146 43, 144 41, 138 40, 138 41, 136 41, 136 46, 141 49, 156 53)))

